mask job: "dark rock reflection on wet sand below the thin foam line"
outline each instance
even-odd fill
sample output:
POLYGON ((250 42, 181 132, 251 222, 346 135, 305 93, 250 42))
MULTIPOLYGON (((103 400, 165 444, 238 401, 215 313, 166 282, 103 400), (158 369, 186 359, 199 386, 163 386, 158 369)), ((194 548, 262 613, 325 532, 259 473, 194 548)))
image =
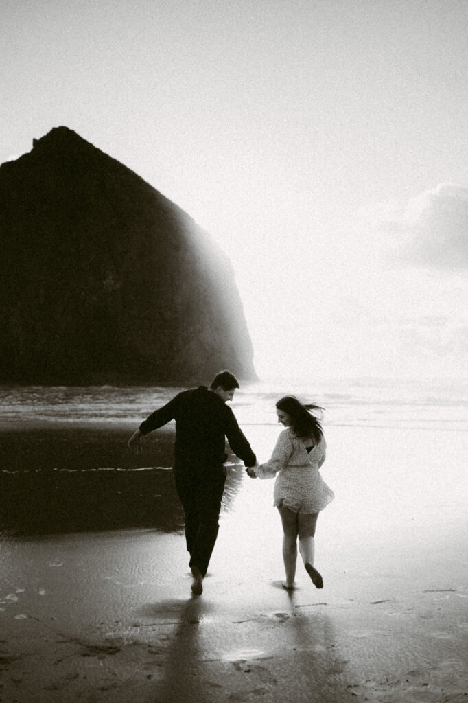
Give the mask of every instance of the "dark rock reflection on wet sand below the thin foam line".
POLYGON ((0 484, 0 525, 6 534, 183 527, 167 470, 32 472, 2 475, 0 484))

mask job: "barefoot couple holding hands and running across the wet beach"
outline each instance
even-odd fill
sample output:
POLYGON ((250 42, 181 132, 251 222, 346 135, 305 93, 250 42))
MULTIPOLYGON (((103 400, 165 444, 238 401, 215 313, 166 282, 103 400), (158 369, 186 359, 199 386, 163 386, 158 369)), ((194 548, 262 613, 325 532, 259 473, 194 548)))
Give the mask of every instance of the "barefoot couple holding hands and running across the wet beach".
POLYGON ((229 371, 216 374, 208 387, 182 391, 144 420, 128 446, 138 451, 142 437, 171 420, 176 421, 174 479, 185 515, 187 550, 193 575, 192 593, 200 595, 203 579, 219 531, 219 512, 226 482, 226 439, 230 449, 245 463, 251 478, 276 477, 274 505, 280 513, 287 590, 294 588, 297 543, 304 567, 316 588, 323 579, 314 567, 314 536, 318 513, 334 498, 320 476, 326 443, 316 405, 304 405, 294 396, 276 403, 280 432, 271 459, 264 464, 256 456, 226 405, 233 399, 238 380, 229 371))

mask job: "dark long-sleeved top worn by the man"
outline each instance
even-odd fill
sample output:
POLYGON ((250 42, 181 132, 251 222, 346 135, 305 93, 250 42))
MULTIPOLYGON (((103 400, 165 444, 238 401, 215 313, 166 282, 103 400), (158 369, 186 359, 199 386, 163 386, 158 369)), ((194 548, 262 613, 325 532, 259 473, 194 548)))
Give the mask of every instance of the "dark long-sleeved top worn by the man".
POLYGON ((140 431, 148 434, 171 420, 176 420, 175 468, 223 464, 227 458, 226 438, 246 466, 256 463, 233 411, 206 386, 178 393, 141 423, 140 431))

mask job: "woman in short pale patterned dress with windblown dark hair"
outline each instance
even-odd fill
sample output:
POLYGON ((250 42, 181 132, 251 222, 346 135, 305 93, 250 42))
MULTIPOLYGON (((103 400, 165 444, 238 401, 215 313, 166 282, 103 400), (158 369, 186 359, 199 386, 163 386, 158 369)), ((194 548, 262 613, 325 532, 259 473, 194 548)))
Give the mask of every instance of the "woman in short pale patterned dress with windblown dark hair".
POLYGON ((271 459, 247 470, 252 478, 268 479, 278 474, 273 497, 282 522, 286 572, 282 585, 287 590, 294 588, 297 538, 306 572, 316 588, 323 588, 322 576, 313 566, 313 538, 318 513, 333 500, 334 494, 320 476, 326 443, 322 426, 311 410, 321 412, 322 408, 303 405, 294 396, 281 398, 276 403, 276 414, 286 429, 280 432, 271 459))

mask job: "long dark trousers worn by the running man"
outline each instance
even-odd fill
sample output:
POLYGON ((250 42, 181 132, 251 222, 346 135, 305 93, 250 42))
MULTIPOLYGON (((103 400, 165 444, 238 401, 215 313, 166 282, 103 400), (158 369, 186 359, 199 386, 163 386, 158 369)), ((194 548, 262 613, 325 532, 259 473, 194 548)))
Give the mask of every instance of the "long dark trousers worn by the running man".
POLYGON ((226 467, 183 465, 174 467, 176 491, 185 513, 190 567, 204 576, 219 530, 219 512, 226 482, 226 467))

